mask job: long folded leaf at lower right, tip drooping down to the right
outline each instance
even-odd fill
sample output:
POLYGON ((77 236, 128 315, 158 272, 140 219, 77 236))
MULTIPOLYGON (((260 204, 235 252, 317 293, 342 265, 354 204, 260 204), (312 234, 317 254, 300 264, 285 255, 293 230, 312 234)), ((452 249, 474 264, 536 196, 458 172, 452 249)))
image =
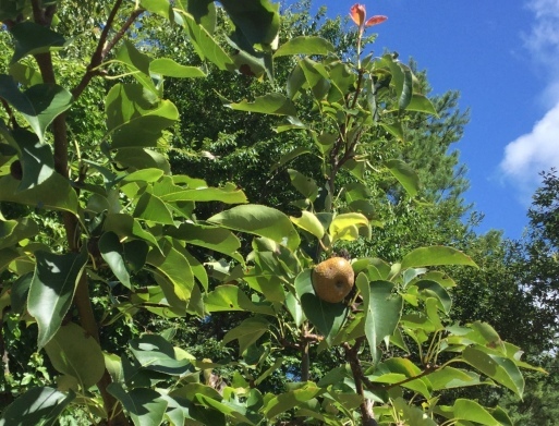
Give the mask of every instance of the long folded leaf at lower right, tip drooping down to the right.
POLYGON ((524 392, 524 378, 517 365, 497 353, 487 353, 478 348, 469 346, 462 353, 464 362, 509 388, 520 398, 524 392))

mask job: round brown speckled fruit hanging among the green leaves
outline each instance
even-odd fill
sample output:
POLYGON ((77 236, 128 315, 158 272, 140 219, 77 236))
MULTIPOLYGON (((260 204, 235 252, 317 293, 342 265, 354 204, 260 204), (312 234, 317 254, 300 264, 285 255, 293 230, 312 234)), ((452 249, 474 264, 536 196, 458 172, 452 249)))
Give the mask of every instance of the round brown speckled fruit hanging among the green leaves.
POLYGON ((343 257, 330 257, 313 270, 315 293, 325 302, 339 303, 350 294, 355 275, 343 257))

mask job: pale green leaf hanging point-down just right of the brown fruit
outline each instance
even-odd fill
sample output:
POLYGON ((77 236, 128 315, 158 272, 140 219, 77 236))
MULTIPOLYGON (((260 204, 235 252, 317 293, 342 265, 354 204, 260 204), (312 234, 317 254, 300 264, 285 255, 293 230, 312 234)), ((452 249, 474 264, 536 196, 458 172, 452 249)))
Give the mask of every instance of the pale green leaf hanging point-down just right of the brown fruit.
POLYGON ((378 345, 393 334, 402 316, 403 299, 393 294, 394 284, 389 281, 369 282, 364 273, 355 280, 363 296, 365 309, 365 336, 373 361, 380 357, 378 345))

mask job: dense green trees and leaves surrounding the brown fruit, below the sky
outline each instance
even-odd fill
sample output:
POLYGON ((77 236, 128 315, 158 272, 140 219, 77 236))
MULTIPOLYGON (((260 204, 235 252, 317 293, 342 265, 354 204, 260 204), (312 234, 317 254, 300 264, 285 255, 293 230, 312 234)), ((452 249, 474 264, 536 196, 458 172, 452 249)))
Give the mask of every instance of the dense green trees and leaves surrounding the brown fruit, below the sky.
POLYGON ((461 222, 458 94, 301 8, 0 0, 0 425, 510 425, 478 389, 554 386, 551 293, 461 222))

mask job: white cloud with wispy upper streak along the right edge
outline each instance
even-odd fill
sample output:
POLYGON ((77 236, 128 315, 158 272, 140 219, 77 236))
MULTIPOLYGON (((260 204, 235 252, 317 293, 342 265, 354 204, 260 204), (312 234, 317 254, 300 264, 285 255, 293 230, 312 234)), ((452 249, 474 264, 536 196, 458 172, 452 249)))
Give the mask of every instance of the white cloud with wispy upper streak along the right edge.
POLYGON ((559 0, 532 0, 527 8, 534 23, 524 36, 524 47, 545 70, 542 76, 548 82, 542 100, 548 112, 530 133, 506 146, 499 167, 523 202, 538 186, 539 172, 559 167, 559 0))

